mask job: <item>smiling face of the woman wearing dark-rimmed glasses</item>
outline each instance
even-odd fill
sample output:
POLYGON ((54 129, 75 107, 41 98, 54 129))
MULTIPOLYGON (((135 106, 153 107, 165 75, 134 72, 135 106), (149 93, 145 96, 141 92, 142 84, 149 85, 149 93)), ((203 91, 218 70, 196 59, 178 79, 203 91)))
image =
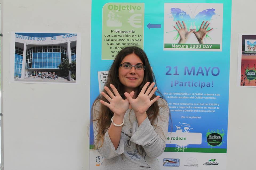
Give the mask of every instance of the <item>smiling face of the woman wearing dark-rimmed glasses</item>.
MULTIPOLYGON (((141 59, 134 53, 125 56, 120 64, 144 65, 141 59)), ((130 93, 131 91, 136 91, 136 88, 143 82, 144 70, 136 70, 135 67, 131 69, 119 67, 118 75, 120 82, 124 86, 124 91, 130 93)))

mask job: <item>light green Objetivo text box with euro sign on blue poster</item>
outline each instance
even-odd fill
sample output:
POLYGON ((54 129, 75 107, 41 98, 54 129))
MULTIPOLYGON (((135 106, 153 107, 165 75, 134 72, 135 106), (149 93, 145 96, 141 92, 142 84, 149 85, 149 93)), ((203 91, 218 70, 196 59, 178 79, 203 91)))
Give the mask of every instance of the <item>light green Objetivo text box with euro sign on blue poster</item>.
POLYGON ((126 46, 143 48, 144 3, 106 3, 102 11, 102 60, 114 60, 126 46))

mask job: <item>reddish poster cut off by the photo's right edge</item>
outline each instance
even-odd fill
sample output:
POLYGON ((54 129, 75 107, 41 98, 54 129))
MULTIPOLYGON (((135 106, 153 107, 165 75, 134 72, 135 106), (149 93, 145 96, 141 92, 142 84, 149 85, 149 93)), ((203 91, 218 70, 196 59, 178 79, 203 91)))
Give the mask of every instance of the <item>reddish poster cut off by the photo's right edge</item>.
POLYGON ((237 84, 256 87, 256 34, 239 34, 237 84))

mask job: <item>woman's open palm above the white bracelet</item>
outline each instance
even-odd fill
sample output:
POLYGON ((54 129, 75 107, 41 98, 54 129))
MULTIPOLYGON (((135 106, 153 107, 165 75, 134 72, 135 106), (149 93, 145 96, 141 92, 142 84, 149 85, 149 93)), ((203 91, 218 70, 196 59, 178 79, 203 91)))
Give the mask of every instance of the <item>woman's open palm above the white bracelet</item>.
MULTIPOLYGON (((104 89, 109 95, 107 95, 105 92, 101 92, 101 94, 109 101, 109 103, 103 100, 100 100, 100 102, 114 112, 116 116, 124 116, 125 112, 129 109, 129 101, 128 99, 123 100, 113 84, 110 84, 110 87, 115 95, 109 90, 108 87, 105 86, 104 89)), ((131 92, 130 94, 128 93, 128 95, 132 97, 134 92, 131 92)))

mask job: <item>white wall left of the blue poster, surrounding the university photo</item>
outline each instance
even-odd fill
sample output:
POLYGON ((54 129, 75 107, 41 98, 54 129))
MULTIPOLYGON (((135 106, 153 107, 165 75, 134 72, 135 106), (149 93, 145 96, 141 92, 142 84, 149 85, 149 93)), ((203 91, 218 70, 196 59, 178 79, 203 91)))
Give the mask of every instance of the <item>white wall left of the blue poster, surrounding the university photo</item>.
POLYGON ((88 0, 1 1, 5 170, 89 169, 90 8, 88 0), (81 83, 10 83, 10 31, 81 32, 81 83))

